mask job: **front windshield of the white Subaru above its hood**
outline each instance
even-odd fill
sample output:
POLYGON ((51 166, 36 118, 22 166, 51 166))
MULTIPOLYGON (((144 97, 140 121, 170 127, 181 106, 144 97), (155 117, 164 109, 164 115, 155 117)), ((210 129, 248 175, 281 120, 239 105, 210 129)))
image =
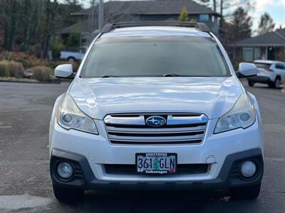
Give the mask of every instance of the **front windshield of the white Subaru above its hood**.
POLYGON ((193 36, 100 38, 81 77, 229 76, 212 38, 193 36))

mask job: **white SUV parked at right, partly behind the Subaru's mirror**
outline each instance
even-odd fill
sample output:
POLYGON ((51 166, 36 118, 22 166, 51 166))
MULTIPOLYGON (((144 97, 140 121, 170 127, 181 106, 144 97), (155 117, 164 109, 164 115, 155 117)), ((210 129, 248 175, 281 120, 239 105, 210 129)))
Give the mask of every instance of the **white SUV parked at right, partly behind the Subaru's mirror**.
POLYGON ((249 86, 255 83, 268 84, 269 87, 279 88, 285 82, 285 63, 276 60, 254 60, 259 72, 257 76, 249 77, 249 86))

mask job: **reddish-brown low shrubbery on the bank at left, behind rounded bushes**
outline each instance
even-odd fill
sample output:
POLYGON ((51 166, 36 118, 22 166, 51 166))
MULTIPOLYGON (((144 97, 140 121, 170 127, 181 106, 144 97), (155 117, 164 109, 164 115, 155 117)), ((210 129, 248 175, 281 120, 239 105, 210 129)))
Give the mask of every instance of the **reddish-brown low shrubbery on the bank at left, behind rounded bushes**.
POLYGON ((31 68, 36 66, 49 66, 48 61, 36 58, 36 56, 28 55, 23 52, 4 52, 0 55, 0 60, 8 60, 20 62, 24 68, 31 68))

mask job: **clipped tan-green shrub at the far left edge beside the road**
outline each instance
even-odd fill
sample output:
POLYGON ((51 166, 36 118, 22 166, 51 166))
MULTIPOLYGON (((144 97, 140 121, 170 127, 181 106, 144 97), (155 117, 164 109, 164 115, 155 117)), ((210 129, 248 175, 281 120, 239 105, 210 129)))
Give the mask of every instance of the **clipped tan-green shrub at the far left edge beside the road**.
POLYGON ((1 77, 24 77, 24 67, 19 62, 0 62, 0 76, 1 77))

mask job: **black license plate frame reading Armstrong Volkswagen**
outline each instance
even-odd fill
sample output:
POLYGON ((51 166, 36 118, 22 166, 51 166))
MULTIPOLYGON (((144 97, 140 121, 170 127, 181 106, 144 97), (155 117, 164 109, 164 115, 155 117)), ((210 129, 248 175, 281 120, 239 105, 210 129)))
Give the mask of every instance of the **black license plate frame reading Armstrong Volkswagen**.
MULTIPOLYGON (((150 163, 150 162, 149 162, 150 163)), ((154 162, 152 162, 153 164, 154 162)), ((136 173, 139 175, 173 175, 175 173, 177 173, 177 153, 135 153, 135 170, 136 173), (174 168, 172 168, 173 166, 173 160, 171 161, 171 165, 169 162, 169 170, 165 170, 166 168, 166 161, 163 162, 165 163, 165 168, 159 168, 158 170, 155 170, 155 168, 151 168, 151 170, 147 170, 145 168, 143 168, 144 170, 140 170, 140 168, 138 168, 138 157, 142 156, 143 158, 157 158, 157 160, 160 161, 160 159, 175 159, 175 163, 174 163, 174 168), (156 156, 156 157, 155 157, 156 156)))

